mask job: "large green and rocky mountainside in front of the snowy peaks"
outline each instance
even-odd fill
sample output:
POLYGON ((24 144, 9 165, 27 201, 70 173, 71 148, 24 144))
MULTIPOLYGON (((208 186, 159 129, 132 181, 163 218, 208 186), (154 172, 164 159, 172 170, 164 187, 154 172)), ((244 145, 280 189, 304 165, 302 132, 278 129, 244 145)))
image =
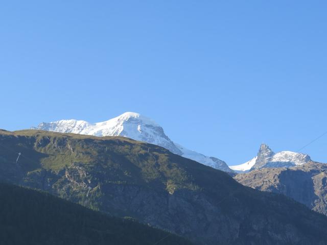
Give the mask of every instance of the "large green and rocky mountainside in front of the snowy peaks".
POLYGON ((323 215, 153 144, 2 131, 0 156, 3 181, 132 216, 196 244, 327 244, 323 215))

